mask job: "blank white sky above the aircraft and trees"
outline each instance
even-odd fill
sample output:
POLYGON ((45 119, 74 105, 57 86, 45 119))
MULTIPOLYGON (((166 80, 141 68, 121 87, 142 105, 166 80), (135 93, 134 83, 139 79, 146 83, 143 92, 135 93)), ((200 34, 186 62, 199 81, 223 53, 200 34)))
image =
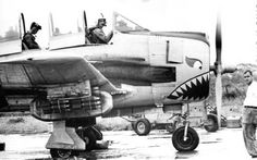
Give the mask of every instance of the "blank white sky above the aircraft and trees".
MULTIPOLYGON (((63 22, 85 10, 88 25, 95 25, 100 13, 111 29, 117 11, 137 24, 156 32, 201 32, 209 36, 211 62, 215 61, 217 13, 222 23, 222 63, 256 63, 257 0, 0 0, 0 35, 23 12, 28 28, 33 21, 42 26, 37 35, 47 46, 48 16, 51 12, 63 22)), ((71 23, 66 23, 69 25, 71 23)))

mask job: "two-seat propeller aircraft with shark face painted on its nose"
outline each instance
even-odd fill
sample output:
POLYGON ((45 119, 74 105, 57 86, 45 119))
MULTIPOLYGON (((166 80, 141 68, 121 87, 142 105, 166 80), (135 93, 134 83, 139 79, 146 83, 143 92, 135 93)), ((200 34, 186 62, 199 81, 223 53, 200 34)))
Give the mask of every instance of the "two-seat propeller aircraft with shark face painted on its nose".
MULTIPOLYGON (((23 14, 15 34, 0 37, 0 110, 29 104, 33 116, 53 122, 46 145, 52 157, 94 149, 102 139, 94 127, 97 116, 133 115, 152 108, 169 112, 208 97, 206 34, 150 32, 114 13, 114 35, 100 45, 87 38, 85 12, 75 32, 65 33, 58 20, 50 15, 47 49, 22 50, 23 14)), ((179 151, 194 150, 199 137, 186 123, 173 133, 172 143, 179 151)))

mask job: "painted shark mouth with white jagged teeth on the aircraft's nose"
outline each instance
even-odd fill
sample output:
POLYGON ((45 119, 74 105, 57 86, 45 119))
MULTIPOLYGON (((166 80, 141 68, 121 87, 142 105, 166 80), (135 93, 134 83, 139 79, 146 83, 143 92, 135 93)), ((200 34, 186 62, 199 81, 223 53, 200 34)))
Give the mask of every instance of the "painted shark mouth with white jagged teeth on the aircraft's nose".
POLYGON ((204 100, 209 95, 209 73, 188 79, 176 87, 169 96, 173 100, 204 100))

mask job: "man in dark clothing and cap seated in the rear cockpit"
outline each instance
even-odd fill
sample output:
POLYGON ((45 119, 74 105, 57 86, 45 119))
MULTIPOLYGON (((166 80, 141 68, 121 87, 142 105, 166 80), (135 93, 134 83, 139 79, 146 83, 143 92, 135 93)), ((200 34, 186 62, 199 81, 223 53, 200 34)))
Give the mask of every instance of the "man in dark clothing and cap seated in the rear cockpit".
MULTIPOLYGON (((23 36, 23 42, 26 45, 28 49, 40 49, 39 45, 36 42, 36 37, 35 35, 37 32, 41 29, 41 26, 37 24, 36 22, 33 22, 30 25, 30 30, 28 30, 24 36, 23 36)), ((23 49, 25 49, 23 47, 23 49)))

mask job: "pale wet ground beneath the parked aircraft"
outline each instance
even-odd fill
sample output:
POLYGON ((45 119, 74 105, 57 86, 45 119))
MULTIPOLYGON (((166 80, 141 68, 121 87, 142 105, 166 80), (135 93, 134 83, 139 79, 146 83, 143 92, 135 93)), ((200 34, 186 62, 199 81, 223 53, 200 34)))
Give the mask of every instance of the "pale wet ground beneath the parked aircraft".
MULTIPOLYGON (((217 133, 208 133, 196 128, 200 143, 195 151, 178 152, 171 141, 171 134, 166 131, 152 131, 148 136, 137 136, 132 131, 103 132, 103 139, 109 141, 109 149, 82 152, 72 160, 87 159, 188 159, 188 160, 249 160, 243 143, 242 128, 222 128, 217 133)), ((49 138, 44 134, 0 135, 5 151, 0 151, 3 160, 51 159, 45 145, 49 138)))

